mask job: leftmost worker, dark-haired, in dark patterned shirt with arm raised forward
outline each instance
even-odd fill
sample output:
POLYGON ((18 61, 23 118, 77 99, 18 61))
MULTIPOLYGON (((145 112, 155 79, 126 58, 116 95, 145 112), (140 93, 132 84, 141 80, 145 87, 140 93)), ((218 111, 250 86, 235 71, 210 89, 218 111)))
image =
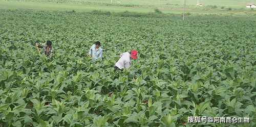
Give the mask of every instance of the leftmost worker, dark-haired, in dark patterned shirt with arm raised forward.
POLYGON ((40 44, 35 43, 35 46, 42 48, 42 53, 44 53, 46 55, 46 57, 53 56, 53 54, 54 54, 52 42, 49 40, 46 43, 40 43, 40 44))

